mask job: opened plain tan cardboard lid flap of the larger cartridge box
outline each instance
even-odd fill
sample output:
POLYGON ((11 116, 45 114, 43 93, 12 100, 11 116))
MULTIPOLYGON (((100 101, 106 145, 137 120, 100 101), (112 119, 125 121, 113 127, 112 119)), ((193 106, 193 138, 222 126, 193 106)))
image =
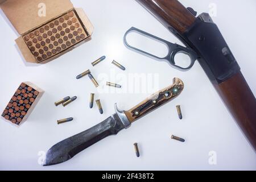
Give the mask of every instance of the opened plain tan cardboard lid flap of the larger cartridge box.
POLYGON ((73 8, 70 0, 0 0, 0 7, 20 35, 73 8), (42 5, 46 16, 39 16, 42 5))

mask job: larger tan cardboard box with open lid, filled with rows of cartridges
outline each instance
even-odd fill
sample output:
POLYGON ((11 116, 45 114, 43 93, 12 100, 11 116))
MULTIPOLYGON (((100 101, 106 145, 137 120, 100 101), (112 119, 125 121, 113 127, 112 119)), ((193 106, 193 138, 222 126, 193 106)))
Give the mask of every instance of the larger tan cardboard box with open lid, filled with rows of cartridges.
POLYGON ((69 0, 0 0, 28 63, 48 63, 91 39, 93 26, 69 0))

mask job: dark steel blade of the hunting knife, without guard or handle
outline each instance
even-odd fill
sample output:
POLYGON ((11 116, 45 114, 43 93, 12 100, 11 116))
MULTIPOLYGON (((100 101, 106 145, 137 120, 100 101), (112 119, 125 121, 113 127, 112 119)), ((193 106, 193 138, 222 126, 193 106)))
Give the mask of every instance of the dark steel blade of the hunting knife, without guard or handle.
POLYGON ((47 151, 43 166, 63 163, 101 139, 116 135, 122 129, 125 126, 118 115, 113 114, 98 125, 55 144, 47 151))

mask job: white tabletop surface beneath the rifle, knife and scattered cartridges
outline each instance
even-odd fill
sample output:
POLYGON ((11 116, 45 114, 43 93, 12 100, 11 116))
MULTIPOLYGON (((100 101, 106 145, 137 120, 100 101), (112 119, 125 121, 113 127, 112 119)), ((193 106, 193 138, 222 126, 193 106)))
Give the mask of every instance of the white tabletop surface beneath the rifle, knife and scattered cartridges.
MULTIPOLYGON (((92 40, 45 65, 24 63, 14 42, 18 35, 1 11, 1 111, 22 81, 31 81, 46 93, 21 127, 12 126, 1 118, 0 169, 256 169, 255 151, 198 63, 190 71, 180 72, 167 63, 139 55, 123 46, 123 35, 132 26, 179 43, 158 20, 135 1, 72 2, 75 7, 82 7, 92 21, 95 27, 92 40), (90 63, 102 55, 106 55, 107 59, 92 68, 90 63), (125 65, 126 71, 110 64, 113 59, 125 65), (159 73, 159 88, 165 88, 172 84, 172 78, 179 77, 184 81, 185 89, 174 101, 135 122, 130 129, 94 144, 68 162, 42 167, 38 164, 39 151, 47 151, 60 140, 101 122, 114 113, 115 102, 127 110, 148 96, 146 93, 98 93, 89 78, 75 79, 78 73, 86 69, 91 69, 96 78, 102 73, 110 75, 113 70, 126 76, 129 73, 159 73), (103 115, 98 113, 96 106, 89 109, 91 92, 101 99, 103 115), (75 95, 78 99, 71 105, 55 107, 54 102, 59 98, 75 95), (184 119, 181 121, 177 118, 177 104, 181 105, 183 111, 184 119), (59 126, 56 124, 57 119, 66 117, 74 117, 75 120, 59 126), (171 140, 172 134, 186 139, 186 142, 171 140), (134 142, 139 144, 141 158, 135 156, 134 142), (216 151, 217 165, 209 165, 210 151, 216 151)), ((183 0, 181 3, 193 7, 199 13, 209 12, 209 4, 216 3, 217 16, 213 20, 232 49, 251 90, 256 94, 256 2, 183 0)), ((156 47, 156 51, 158 49, 156 47)), ((101 88, 105 86, 105 80, 98 81, 101 88)), ((123 89, 126 87, 129 85, 123 89)))

